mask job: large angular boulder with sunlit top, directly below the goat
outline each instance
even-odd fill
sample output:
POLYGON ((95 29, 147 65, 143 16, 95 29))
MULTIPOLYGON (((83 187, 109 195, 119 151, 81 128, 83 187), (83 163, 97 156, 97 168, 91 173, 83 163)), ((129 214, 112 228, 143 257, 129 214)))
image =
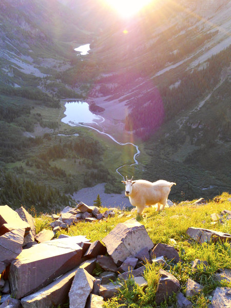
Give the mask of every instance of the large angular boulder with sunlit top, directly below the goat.
POLYGON ((144 247, 153 247, 144 225, 136 219, 119 223, 102 241, 116 264, 136 255, 144 247))

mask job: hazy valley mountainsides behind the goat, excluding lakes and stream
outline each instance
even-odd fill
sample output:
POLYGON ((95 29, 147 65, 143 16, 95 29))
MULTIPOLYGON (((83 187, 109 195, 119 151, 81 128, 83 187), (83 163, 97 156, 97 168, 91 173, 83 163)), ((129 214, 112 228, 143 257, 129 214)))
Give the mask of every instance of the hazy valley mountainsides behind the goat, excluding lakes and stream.
POLYGON ((106 0, 2 0, 1 203, 58 208, 98 183, 122 192, 121 175, 174 181, 176 200, 229 191, 230 10, 155 0, 125 17, 106 0), (130 144, 61 122, 67 100, 130 144))

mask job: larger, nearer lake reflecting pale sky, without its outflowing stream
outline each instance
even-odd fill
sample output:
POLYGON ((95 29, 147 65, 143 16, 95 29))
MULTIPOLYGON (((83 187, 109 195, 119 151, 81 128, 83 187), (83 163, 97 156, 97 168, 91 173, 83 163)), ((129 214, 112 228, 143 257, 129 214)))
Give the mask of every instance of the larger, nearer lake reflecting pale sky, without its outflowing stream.
POLYGON ((62 122, 75 126, 79 123, 99 123, 103 122, 104 118, 101 115, 94 114, 89 110, 89 105, 86 102, 73 101, 65 104, 65 118, 62 122))

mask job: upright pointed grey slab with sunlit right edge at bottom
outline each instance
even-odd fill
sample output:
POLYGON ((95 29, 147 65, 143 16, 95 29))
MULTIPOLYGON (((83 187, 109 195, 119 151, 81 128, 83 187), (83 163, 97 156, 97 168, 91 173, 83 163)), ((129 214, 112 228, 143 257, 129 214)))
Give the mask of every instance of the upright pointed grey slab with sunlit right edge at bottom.
POLYGON ((94 277, 78 268, 69 291, 70 308, 85 308, 87 298, 93 288, 94 277))

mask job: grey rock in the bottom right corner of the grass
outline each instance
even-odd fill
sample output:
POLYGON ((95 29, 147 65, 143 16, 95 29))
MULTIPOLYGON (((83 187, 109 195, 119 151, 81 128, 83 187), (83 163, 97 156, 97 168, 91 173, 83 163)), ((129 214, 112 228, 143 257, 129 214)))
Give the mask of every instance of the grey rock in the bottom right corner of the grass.
POLYGON ((230 308, 231 287, 217 287, 209 308, 230 308))

